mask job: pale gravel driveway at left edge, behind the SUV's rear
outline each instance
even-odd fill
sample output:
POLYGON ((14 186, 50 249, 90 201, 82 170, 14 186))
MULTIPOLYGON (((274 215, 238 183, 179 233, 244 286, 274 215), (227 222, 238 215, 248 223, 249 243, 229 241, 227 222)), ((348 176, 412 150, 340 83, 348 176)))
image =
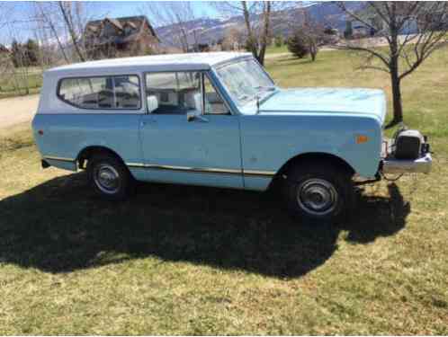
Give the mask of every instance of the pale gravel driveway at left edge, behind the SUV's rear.
POLYGON ((38 94, 0 100, 0 129, 31 120, 37 111, 38 103, 38 94))

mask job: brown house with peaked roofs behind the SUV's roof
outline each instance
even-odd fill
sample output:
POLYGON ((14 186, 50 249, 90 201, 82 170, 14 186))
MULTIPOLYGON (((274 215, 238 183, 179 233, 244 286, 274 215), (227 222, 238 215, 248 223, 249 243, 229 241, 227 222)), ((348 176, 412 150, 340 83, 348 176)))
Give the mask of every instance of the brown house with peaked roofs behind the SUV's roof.
POLYGON ((143 15, 87 22, 84 39, 87 56, 94 59, 153 54, 160 42, 143 15))

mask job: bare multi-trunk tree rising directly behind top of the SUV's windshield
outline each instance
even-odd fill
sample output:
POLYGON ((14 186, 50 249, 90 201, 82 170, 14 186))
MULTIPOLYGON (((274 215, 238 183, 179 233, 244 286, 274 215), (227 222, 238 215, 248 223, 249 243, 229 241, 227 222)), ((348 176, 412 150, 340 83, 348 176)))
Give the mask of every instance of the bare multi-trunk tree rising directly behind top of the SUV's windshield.
POLYGON ((264 55, 272 31, 273 13, 280 4, 273 1, 223 1, 213 4, 223 14, 237 15, 244 18, 246 48, 263 65, 264 55))

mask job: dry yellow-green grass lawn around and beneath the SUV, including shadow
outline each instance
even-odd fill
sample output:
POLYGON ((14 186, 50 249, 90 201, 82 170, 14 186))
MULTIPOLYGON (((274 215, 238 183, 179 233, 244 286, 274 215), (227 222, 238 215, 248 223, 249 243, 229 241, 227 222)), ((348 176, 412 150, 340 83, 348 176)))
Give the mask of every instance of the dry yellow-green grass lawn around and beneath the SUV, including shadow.
MULTIPOLYGON (((273 58, 282 86, 367 86, 322 52, 273 58)), ((98 200, 40 169, 27 126, 0 136, 0 333, 447 334, 448 50, 403 83, 434 172, 360 190, 350 223, 306 227, 269 193, 141 184, 98 200)))

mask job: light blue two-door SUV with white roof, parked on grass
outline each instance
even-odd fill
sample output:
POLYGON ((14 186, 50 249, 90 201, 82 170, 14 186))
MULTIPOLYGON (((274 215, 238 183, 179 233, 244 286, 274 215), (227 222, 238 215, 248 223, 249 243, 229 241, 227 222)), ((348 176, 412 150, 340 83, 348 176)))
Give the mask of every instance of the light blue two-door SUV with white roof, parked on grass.
POLYGON ((132 182, 265 191, 308 219, 343 217, 354 183, 429 173, 426 137, 382 137, 381 90, 281 89, 250 54, 117 58, 45 72, 32 121, 42 166, 86 169, 121 200, 132 182))

